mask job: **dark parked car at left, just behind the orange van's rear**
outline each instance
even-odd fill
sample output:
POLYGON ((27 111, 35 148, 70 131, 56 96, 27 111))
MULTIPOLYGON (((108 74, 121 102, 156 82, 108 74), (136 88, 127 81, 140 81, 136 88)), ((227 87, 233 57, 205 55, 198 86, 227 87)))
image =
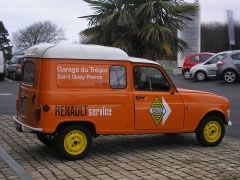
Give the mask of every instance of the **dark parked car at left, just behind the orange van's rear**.
POLYGON ((13 56, 6 69, 7 77, 19 80, 22 74, 23 55, 13 56))

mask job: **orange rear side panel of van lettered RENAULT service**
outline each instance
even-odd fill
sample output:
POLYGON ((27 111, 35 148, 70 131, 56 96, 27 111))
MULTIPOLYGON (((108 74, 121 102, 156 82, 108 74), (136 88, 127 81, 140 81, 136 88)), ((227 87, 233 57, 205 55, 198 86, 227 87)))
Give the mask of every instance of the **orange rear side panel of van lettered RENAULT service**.
MULTIPOLYGON (((111 89, 108 72, 113 65, 124 66, 128 70, 130 62, 39 61, 41 75, 37 106, 48 105, 49 111, 41 111, 41 120, 36 123, 44 132, 53 133, 59 124, 75 121, 92 122, 97 132, 134 129, 131 87, 111 89), (49 72, 53 76, 49 77, 49 72), (84 78, 75 78, 79 74, 84 78)), ((129 71, 126 71, 126 76, 131 84, 129 71)))

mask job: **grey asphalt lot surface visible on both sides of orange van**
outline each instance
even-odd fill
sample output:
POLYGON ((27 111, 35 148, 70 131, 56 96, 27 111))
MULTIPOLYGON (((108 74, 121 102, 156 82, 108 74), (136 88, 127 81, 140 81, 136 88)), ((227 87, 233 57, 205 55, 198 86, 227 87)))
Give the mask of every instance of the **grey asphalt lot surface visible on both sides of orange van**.
MULTIPOLYGON (((195 82, 184 80, 182 76, 171 76, 177 87, 213 92, 227 97, 231 102, 230 120, 226 135, 240 139, 240 83, 226 84, 221 80, 195 82)), ((0 81, 0 114, 16 114, 15 104, 19 82, 5 79, 0 81)))

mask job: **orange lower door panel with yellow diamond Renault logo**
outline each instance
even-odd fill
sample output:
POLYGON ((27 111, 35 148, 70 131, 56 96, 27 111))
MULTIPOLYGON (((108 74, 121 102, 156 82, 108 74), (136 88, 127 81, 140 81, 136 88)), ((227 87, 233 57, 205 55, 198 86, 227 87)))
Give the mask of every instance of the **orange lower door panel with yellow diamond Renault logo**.
POLYGON ((134 91, 135 100, 135 128, 136 129, 183 129, 184 125, 184 104, 178 93, 169 92, 138 92, 134 91), (144 99, 137 99, 138 96, 144 99), (158 102, 156 102, 156 100, 158 102), (156 103, 160 103, 163 112, 161 115, 154 115, 151 110, 156 103), (166 119, 164 119, 166 118, 166 119), (160 121, 160 122, 158 122, 160 121))

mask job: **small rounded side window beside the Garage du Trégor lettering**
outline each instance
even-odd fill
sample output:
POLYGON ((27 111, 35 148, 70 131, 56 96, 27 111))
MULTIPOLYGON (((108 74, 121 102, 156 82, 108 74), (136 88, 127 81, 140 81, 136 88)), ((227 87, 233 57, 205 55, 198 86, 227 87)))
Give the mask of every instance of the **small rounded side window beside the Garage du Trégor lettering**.
POLYGON ((111 66, 110 87, 113 89, 124 89, 127 86, 126 69, 124 66, 111 66))

